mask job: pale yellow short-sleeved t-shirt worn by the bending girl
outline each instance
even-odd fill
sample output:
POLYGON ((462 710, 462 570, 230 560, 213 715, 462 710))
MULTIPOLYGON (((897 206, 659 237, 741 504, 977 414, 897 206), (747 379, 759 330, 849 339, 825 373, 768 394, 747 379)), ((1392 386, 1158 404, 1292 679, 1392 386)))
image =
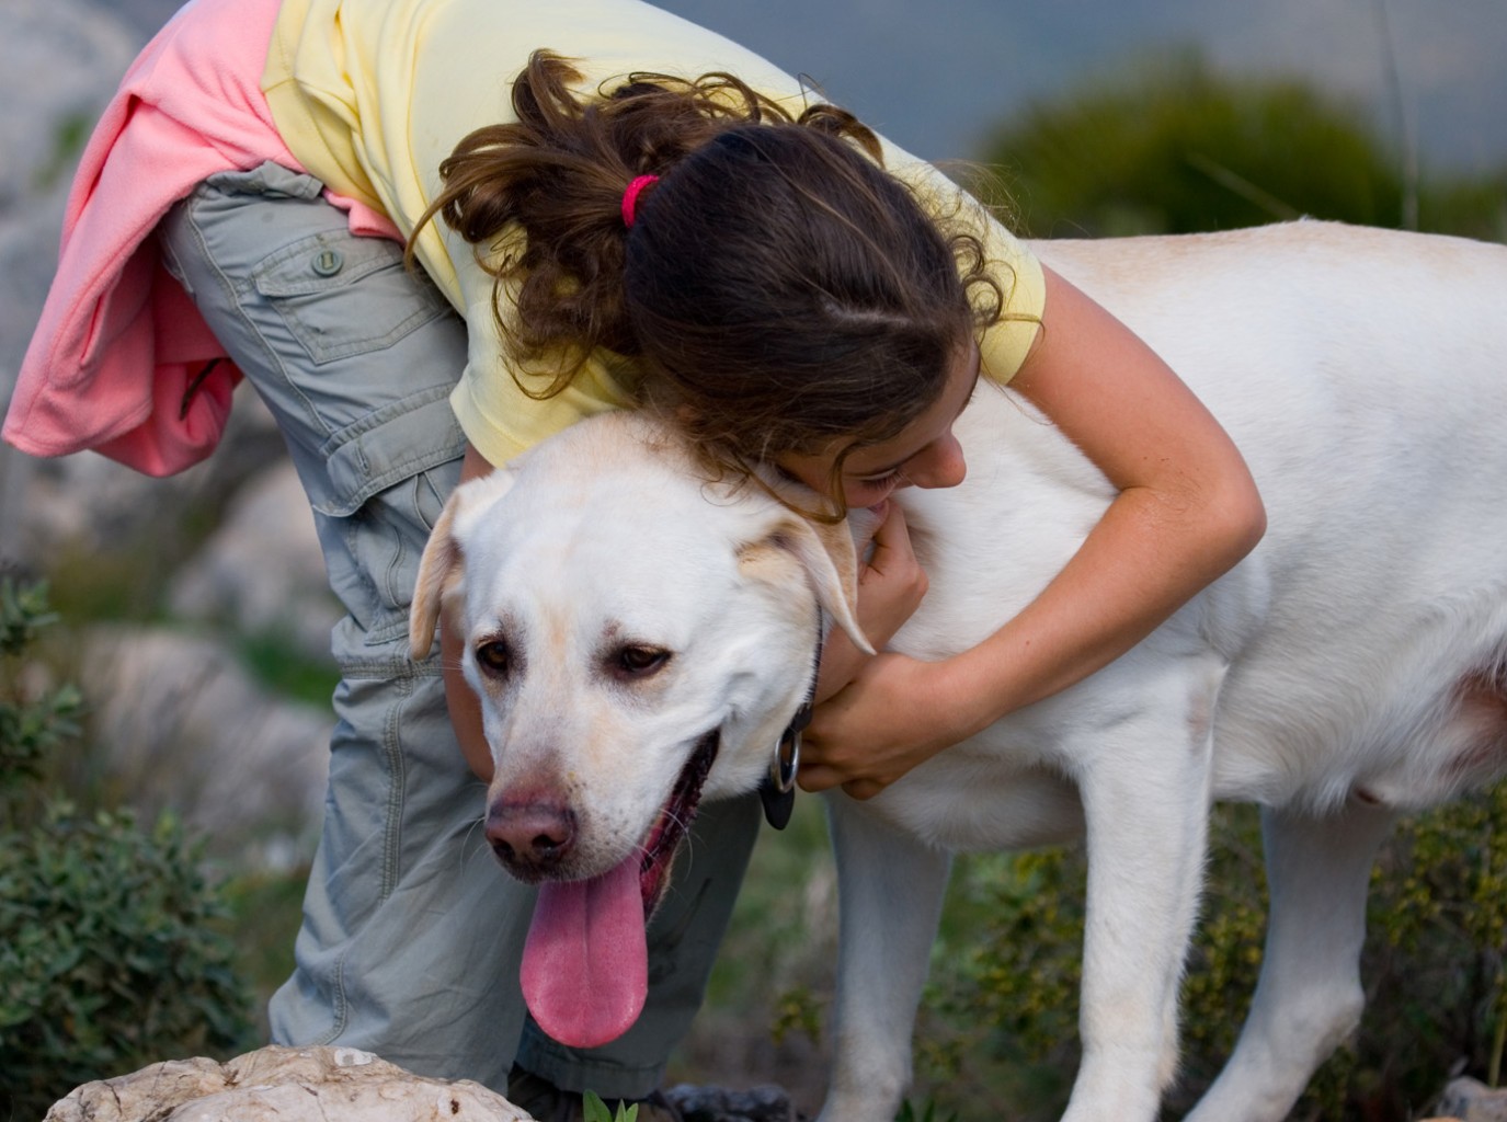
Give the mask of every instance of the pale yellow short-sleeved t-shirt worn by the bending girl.
MULTIPOLYGON (((511 81, 529 54, 571 59, 583 89, 631 71, 737 74, 796 111, 800 83, 752 51, 637 0, 283 0, 262 89, 289 151, 333 191, 387 214, 405 235, 439 193, 440 161, 469 133, 512 120, 511 81)), ((940 172, 885 145, 885 166, 922 196, 960 197, 940 172)), ((971 199, 1011 319, 983 340, 984 372, 1014 377, 1035 337, 1044 291, 1029 252, 971 199)), ((948 206, 946 202, 942 203, 948 206)), ((431 221, 416 250, 466 318, 467 366, 451 398, 472 444, 502 464, 574 420, 625 404, 616 355, 594 355, 561 395, 538 401, 514 375, 493 315, 493 277, 476 248, 431 221)), ((543 384, 543 383, 535 383, 543 384)))

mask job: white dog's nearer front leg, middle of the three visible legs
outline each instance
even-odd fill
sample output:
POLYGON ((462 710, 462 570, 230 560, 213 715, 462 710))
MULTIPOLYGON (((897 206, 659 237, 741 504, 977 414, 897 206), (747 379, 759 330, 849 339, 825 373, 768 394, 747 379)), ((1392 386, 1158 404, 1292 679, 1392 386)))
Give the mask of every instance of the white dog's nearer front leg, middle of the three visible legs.
POLYGON ((1084 1062, 1064 1122, 1150 1122, 1177 1068, 1177 988, 1209 821, 1213 691, 1136 697, 1136 715, 1085 732, 1088 830, 1079 1026, 1084 1062), (1093 738, 1088 742, 1087 738, 1093 738))

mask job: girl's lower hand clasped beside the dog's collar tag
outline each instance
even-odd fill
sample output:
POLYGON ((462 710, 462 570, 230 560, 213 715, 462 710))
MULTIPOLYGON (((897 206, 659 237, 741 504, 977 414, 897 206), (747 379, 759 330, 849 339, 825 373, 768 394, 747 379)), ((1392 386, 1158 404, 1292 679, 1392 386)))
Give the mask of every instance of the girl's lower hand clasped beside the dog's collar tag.
POLYGON ((897 654, 867 660, 851 682, 817 706, 802 735, 800 786, 841 786, 853 798, 873 798, 977 732, 957 703, 955 670, 952 661, 919 663, 897 654))

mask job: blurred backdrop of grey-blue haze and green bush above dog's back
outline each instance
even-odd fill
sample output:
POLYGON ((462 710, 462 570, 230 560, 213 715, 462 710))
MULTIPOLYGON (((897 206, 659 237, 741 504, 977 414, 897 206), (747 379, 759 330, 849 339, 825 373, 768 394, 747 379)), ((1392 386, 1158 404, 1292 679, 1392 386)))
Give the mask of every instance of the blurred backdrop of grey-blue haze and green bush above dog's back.
MULTIPOLYGON (((136 35, 173 11, 96 2, 136 35)), ((971 185, 1035 236, 1304 214, 1507 227, 1489 199, 1507 184, 1504 0, 665 6, 808 77, 916 155, 987 166, 995 181, 971 185)))

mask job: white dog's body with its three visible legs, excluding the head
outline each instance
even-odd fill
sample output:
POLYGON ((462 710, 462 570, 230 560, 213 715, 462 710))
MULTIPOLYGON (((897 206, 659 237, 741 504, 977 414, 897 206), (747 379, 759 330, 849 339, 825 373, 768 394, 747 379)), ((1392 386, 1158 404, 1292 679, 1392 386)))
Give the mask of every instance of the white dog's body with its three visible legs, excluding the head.
MULTIPOLYGON (((844 1048, 823 1122, 885 1116, 904 1087, 937 848, 1076 834, 1084 1062, 1064 1122, 1156 1117, 1210 798, 1263 804, 1272 913, 1240 1044, 1191 1122, 1276 1122, 1359 1018, 1395 815, 1507 771, 1507 248, 1307 221, 1035 248, 1225 425, 1267 533, 1099 673, 833 803, 844 1048)), ((901 500, 930 590, 894 646, 921 658, 1004 624, 1112 498, 1008 390, 980 390, 958 435, 967 480, 901 500)))

